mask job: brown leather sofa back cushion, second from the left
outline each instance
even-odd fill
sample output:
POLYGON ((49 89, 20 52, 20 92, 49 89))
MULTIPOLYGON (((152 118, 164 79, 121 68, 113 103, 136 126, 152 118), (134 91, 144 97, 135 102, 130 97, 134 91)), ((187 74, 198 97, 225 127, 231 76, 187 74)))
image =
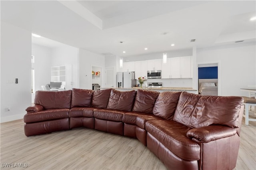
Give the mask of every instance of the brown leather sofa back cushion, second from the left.
POLYGON ((93 90, 72 89, 71 107, 88 107, 91 106, 93 90))

